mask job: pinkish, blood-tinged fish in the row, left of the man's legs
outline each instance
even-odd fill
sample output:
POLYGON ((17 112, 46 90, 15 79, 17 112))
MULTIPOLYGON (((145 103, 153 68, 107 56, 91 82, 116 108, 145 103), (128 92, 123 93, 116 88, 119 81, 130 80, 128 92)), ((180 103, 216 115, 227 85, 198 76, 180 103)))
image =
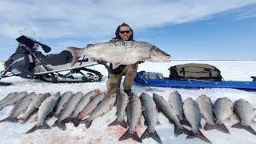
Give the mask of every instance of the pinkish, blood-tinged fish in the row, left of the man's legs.
POLYGON ((86 107, 82 109, 82 111, 78 114, 79 121, 82 120, 82 118, 85 118, 87 114, 90 114, 98 105, 99 102, 102 101, 103 98, 105 98, 106 93, 100 93, 98 94, 94 99, 92 99, 86 107))

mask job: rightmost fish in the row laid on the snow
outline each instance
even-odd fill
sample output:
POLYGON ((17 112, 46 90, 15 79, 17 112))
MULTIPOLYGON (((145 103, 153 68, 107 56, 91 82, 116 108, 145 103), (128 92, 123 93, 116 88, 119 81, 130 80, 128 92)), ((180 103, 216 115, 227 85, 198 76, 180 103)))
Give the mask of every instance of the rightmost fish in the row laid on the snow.
POLYGON ((256 135, 255 130, 250 126, 251 122, 254 119, 254 108, 247 102, 246 100, 240 98, 236 102, 234 102, 234 110, 238 117, 240 118, 240 122, 234 124, 231 127, 238 129, 245 129, 249 131, 251 134, 256 135))

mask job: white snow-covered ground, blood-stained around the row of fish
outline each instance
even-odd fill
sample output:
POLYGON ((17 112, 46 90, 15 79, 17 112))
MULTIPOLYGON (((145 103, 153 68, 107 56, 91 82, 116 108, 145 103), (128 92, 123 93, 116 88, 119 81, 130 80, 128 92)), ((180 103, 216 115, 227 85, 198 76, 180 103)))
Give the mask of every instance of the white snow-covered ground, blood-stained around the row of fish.
MULTIPOLYGON (((222 77, 225 80, 240 80, 251 81, 250 76, 256 76, 256 62, 255 61, 174 61, 170 63, 151 63, 146 62, 139 65, 139 70, 161 72, 164 76, 168 77, 170 66, 183 63, 208 63, 218 67, 222 71, 222 77)), ((28 92, 35 91, 39 93, 46 92, 66 92, 72 90, 77 92, 82 90, 84 92, 99 88, 106 90, 106 78, 107 71, 103 66, 92 66, 95 70, 99 70, 104 75, 102 82, 83 83, 83 84, 53 84, 40 82, 38 80, 28 80, 24 78, 4 78, 2 82, 14 82, 12 86, 0 86, 0 99, 4 98, 6 94, 14 91, 27 90, 28 92)), ((3 66, 0 66, 0 70, 3 66)), ((161 94, 164 98, 168 98, 170 92, 178 90, 182 94, 182 99, 186 98, 198 98, 201 94, 206 94, 214 102, 217 98, 228 97, 233 102, 239 98, 244 98, 251 102, 256 108, 256 92, 235 90, 235 89, 182 89, 182 88, 163 88, 152 87, 153 91, 147 91, 147 87, 134 84, 133 91, 141 94, 142 92, 148 93, 152 96, 153 93, 161 94)), ((13 106, 8 106, 0 111, 0 119, 8 117, 10 110, 13 106)), ((102 117, 96 118, 92 123, 90 129, 86 129, 86 126, 80 125, 77 128, 73 124, 67 124, 65 131, 58 129, 57 127, 51 130, 37 130, 31 134, 25 134, 27 130, 30 130, 34 126, 33 119, 30 122, 22 124, 21 122, 2 122, 0 123, 0 143, 119 143, 118 138, 126 131, 121 126, 108 127, 107 125, 115 119, 114 107, 110 112, 102 117)), ((255 118, 256 119, 256 118, 255 118)), ((142 123, 144 119, 142 118, 142 123)), ((157 131, 162 139, 162 143, 190 143, 198 144, 205 143, 201 139, 186 139, 185 134, 181 134, 178 137, 174 136, 174 126, 170 125, 167 118, 163 114, 159 113, 160 125, 158 125, 157 131)), ((49 124, 53 124, 54 118, 49 120, 49 124)), ((224 134, 217 130, 202 130, 202 133, 206 135, 213 143, 256 143, 256 137, 250 134, 246 130, 230 128, 234 123, 238 122, 238 119, 234 116, 230 121, 226 122, 226 126, 230 130, 230 134, 224 134)), ((203 122, 202 122, 203 124, 203 122)), ((256 124, 253 123, 252 127, 256 130, 256 124)), ((146 126, 139 126, 138 135, 146 130, 146 126)), ((143 143, 156 143, 152 138, 148 138, 142 141, 143 143)), ((123 141, 123 143, 135 143, 132 139, 123 141)))

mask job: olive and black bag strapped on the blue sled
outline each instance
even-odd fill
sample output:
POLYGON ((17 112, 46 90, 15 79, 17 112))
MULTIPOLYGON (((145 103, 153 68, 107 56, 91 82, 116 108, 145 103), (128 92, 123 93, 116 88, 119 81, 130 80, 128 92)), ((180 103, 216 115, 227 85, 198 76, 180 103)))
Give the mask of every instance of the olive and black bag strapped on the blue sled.
POLYGON ((172 80, 222 81, 221 71, 209 64, 187 63, 168 70, 172 80))

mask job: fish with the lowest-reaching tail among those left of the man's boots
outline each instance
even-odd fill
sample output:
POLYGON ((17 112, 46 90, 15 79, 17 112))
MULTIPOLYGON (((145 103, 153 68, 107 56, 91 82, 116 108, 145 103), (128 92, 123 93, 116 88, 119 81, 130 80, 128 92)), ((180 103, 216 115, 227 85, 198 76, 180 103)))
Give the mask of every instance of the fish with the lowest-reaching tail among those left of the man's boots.
POLYGON ((54 110, 59 98, 60 93, 50 94, 50 96, 42 102, 38 109, 38 123, 32 127, 32 129, 28 130, 26 134, 32 133, 35 130, 50 129, 50 126, 46 124, 46 118, 54 110))

